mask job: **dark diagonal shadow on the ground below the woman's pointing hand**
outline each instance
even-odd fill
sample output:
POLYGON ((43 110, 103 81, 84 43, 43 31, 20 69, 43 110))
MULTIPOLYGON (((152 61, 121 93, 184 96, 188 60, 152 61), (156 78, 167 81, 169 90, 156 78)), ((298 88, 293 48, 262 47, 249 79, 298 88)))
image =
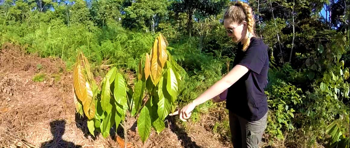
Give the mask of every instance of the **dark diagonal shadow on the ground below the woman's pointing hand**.
POLYGON ((174 116, 168 116, 166 117, 166 120, 168 120, 169 124, 166 127, 170 126, 170 129, 172 132, 174 132, 177 135, 177 139, 181 140, 181 146, 185 148, 202 148, 197 145, 196 142, 192 141, 191 137, 186 133, 184 128, 179 127, 176 124, 175 117, 174 116))

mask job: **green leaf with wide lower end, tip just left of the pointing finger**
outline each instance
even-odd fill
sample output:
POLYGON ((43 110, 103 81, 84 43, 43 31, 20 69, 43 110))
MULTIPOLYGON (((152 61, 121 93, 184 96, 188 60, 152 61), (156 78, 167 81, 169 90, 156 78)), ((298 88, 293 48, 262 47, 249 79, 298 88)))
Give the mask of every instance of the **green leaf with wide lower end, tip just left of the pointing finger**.
MULTIPOLYGON (((164 96, 164 93, 163 91, 165 89, 163 89, 163 87, 166 86, 165 83, 164 83, 164 77, 162 76, 160 78, 160 81, 159 81, 159 85, 158 85, 158 110, 157 110, 157 113, 158 113, 158 116, 160 119, 165 119, 165 117, 169 114, 170 112, 170 107, 171 107, 171 103, 169 102, 169 99, 166 99, 165 96, 164 96)), ((166 90, 165 90, 166 91, 166 90)))

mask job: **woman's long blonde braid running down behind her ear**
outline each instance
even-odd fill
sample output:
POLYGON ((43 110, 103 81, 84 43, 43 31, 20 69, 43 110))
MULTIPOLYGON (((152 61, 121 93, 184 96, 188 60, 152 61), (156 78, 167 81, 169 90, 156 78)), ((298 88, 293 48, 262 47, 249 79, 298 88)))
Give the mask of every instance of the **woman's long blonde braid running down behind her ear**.
MULTIPOLYGON (((238 1, 236 3, 239 7, 241 7, 243 9, 243 11, 245 12, 245 15, 246 15, 246 22, 248 24, 247 26, 247 31, 252 34, 253 36, 255 36, 254 34, 254 27, 255 27, 255 21, 254 21, 254 18, 253 18, 253 12, 252 12, 252 8, 245 2, 242 2, 242 1, 238 1)), ((248 35, 248 38, 247 38, 247 41, 244 43, 243 45, 243 51, 246 51, 249 44, 250 44, 250 38, 251 38, 251 35, 248 35)))

